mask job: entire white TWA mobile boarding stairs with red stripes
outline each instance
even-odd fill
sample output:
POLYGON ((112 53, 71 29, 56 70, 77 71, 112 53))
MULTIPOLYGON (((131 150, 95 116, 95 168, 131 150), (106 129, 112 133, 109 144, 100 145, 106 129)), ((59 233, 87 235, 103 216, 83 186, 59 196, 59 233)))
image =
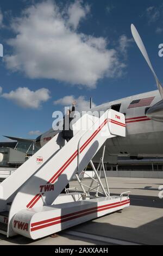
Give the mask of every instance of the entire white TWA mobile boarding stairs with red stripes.
POLYGON ((39 239, 129 206, 129 192, 110 196, 103 164, 106 140, 126 136, 124 115, 112 109, 100 118, 84 114, 73 131, 71 141, 65 144, 59 133, 1 183, 0 233, 39 239), (96 169, 92 159, 102 146, 96 169), (87 185, 80 174, 89 163, 95 176, 87 185), (82 192, 72 188, 61 194, 74 175, 82 192))

